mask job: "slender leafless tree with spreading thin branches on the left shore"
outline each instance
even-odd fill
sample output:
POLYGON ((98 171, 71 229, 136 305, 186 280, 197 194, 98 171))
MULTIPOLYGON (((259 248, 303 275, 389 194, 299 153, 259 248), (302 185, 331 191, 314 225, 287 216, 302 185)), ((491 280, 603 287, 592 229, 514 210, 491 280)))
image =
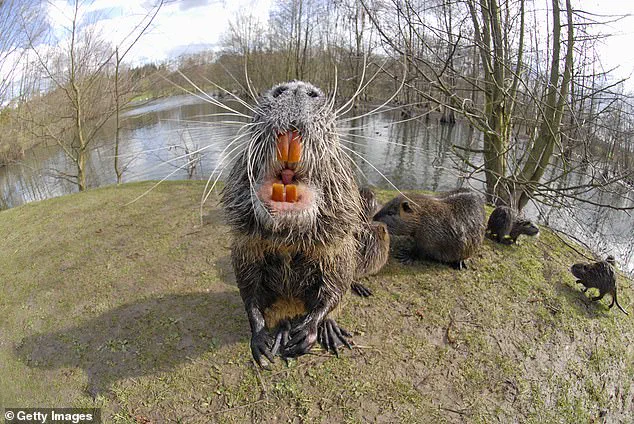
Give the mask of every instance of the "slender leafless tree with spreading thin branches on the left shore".
POLYGON ((97 33, 94 22, 82 18, 86 3, 80 0, 73 2, 64 37, 51 38, 49 47, 36 44, 29 28, 23 28, 47 84, 43 95, 28 102, 26 119, 35 128, 33 137, 53 141, 74 164, 74 173, 58 171, 57 176, 72 181, 80 191, 87 188, 90 145, 113 116, 119 128, 123 94, 119 78, 121 61, 149 27, 161 5, 162 2, 155 7, 154 14, 148 15, 149 23, 140 25, 141 30, 133 34, 136 38, 120 56, 118 49, 113 49, 97 33))

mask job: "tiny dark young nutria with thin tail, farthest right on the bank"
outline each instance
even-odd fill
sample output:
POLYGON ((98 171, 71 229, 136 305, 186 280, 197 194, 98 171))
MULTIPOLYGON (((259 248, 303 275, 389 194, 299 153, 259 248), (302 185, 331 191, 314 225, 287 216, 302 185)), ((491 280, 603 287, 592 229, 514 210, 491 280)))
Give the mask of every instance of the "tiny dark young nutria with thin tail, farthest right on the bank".
POLYGON ((577 283, 581 283, 585 286, 583 289, 584 293, 591 288, 599 289, 599 295, 593 297, 593 301, 601 300, 606 293, 609 293, 612 296, 610 308, 616 303, 616 306, 618 306, 625 315, 629 315, 627 311, 619 305, 619 301, 616 299, 616 273, 613 268, 615 264, 614 256, 610 255, 605 258, 605 261, 574 264, 570 268, 570 272, 577 277, 577 283))

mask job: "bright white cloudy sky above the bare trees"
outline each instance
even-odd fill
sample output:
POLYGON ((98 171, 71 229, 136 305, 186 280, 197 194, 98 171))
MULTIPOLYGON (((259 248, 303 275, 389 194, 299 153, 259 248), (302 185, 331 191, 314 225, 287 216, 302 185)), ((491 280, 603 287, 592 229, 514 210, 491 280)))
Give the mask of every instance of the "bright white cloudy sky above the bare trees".
MULTIPOLYGON (((540 1, 536 0, 539 5, 540 1)), ((103 37, 113 45, 123 45, 123 38, 147 15, 157 0, 89 0, 82 12, 102 30, 103 37)), ((213 48, 228 27, 228 21, 242 10, 266 23, 272 0, 168 0, 150 31, 130 51, 127 62, 138 65, 159 62, 183 53, 213 48)), ((550 0, 548 0, 550 2, 550 0)), ((72 2, 48 0, 47 19, 58 35, 65 33, 72 16, 72 2)), ((634 74, 634 0, 577 0, 583 9, 598 15, 624 15, 627 18, 597 27, 597 31, 612 33, 599 49, 605 68, 618 66, 615 76, 634 74)), ((597 20, 609 19, 606 16, 597 20)), ((634 79, 628 84, 634 87, 634 79)))

